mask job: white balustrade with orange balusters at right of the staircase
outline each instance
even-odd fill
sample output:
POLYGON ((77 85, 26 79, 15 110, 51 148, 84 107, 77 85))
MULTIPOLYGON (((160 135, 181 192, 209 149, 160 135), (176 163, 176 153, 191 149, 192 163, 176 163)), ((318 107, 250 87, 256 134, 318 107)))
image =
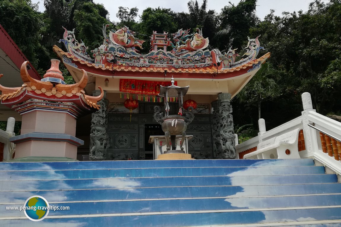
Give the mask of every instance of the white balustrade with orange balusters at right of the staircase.
POLYGON ((252 152, 257 153, 257 149, 251 148, 257 147, 262 141, 270 141, 294 129, 303 129, 298 135, 299 156, 313 158, 315 164, 325 165, 331 171, 341 174, 341 123, 316 113, 309 93, 302 94, 302 103, 301 116, 269 131, 266 131, 264 119, 260 119, 258 136, 236 145, 237 157, 245 158, 247 153, 247 157, 251 157, 252 152))

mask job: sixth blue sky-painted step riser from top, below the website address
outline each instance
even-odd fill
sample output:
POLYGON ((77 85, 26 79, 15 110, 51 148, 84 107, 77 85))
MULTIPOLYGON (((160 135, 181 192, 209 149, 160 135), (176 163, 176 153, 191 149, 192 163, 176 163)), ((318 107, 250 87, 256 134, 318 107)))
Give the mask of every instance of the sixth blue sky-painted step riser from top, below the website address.
POLYGON ((290 223, 305 221, 340 220, 341 207, 292 207, 283 209, 236 209, 211 211, 120 213, 96 215, 53 215, 50 211, 42 222, 26 217, 2 217, 0 226, 153 226, 183 227, 227 224, 290 223))

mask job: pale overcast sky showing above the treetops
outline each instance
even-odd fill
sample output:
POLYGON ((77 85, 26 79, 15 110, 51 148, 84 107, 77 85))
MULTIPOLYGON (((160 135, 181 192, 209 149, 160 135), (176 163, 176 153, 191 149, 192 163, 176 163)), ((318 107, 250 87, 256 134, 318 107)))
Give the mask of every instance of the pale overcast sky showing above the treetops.
MULTIPOLYGON (((238 4, 240 0, 231 0, 235 5, 238 4)), ((313 0, 258 0, 256 7, 256 14, 262 20, 269 14, 270 10, 275 10, 275 15, 281 16, 282 12, 294 12, 302 10, 306 12, 308 10, 309 3, 313 0)), ((39 2, 39 11, 44 11, 43 0, 32 0, 33 3, 39 2)), ((175 12, 188 12, 187 2, 188 0, 94 0, 95 3, 102 3, 104 7, 110 13, 110 20, 119 21, 116 17, 116 13, 119 6, 132 8, 137 6, 139 9, 139 15, 147 7, 156 8, 160 6, 161 8, 170 8, 175 12)), ((199 5, 202 4, 202 0, 198 0, 199 5)), ((208 10, 215 10, 220 13, 220 10, 225 6, 229 5, 229 0, 208 0, 208 10)), ((136 18, 138 20, 139 17, 136 18)))

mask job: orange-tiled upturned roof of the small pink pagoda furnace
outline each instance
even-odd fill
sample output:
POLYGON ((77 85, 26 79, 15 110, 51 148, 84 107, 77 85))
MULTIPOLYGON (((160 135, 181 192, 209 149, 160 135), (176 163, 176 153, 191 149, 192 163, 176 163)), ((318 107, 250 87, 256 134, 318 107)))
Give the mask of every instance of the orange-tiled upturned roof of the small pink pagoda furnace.
MULTIPOLYGON (((29 62, 25 61, 20 68, 20 76, 24 82, 21 87, 0 85, 1 103, 5 106, 20 114, 40 109, 64 111, 74 117, 100 109, 97 101, 103 98, 104 91, 99 87, 101 95, 97 97, 85 95, 84 87, 88 81, 85 70, 83 70, 83 77, 78 83, 65 85, 59 82, 40 81, 32 78, 27 71, 28 64, 29 62)), ((0 74, 0 78, 2 76, 0 74)))

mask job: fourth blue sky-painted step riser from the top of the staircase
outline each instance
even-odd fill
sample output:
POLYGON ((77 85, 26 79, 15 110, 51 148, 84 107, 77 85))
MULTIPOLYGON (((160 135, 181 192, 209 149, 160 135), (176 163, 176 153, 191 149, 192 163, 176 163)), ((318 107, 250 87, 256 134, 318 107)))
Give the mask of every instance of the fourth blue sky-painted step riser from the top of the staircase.
POLYGON ((48 191, 8 191, 0 192, 2 204, 23 202, 33 195, 41 195, 50 202, 123 200, 123 199, 163 199, 192 197, 250 197, 283 196, 299 194, 341 193, 341 183, 285 184, 257 186, 199 186, 199 187, 155 187, 89 190, 48 190, 48 191))

